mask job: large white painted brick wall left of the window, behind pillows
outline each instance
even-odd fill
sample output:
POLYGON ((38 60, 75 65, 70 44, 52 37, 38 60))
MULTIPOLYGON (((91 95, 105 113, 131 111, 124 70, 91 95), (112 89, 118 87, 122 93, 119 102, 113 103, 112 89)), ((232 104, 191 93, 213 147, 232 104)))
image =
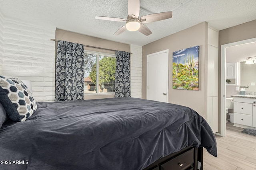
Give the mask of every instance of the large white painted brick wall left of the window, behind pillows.
POLYGON ((2 75, 31 80, 37 102, 54 101, 55 44, 50 39, 55 37, 55 30, 4 16, 2 75))

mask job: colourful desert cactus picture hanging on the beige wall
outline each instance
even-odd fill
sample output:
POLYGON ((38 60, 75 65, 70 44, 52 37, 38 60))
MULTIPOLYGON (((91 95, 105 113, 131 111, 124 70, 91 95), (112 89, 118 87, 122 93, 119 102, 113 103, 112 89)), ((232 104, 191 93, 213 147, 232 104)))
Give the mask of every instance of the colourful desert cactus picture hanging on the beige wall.
POLYGON ((199 46, 172 53, 172 89, 199 90, 199 46))

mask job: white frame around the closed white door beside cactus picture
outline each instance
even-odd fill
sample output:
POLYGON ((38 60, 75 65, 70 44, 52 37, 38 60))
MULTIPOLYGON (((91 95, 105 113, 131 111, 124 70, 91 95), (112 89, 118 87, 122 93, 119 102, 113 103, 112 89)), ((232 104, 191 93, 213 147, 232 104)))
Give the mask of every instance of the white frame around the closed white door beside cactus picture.
MULTIPOLYGON (((158 55, 158 54, 161 54, 161 53, 166 53, 166 56, 167 56, 167 62, 166 62, 166 67, 167 67, 167 89, 166 89, 166 97, 167 97, 167 103, 169 103, 169 49, 166 49, 166 50, 163 50, 163 51, 159 51, 159 52, 156 52, 156 53, 152 53, 152 54, 149 54, 147 55, 147 84, 146 84, 146 90, 147 90, 147 93, 146 93, 146 99, 148 99, 148 57, 152 56, 152 55, 158 55)), ((164 64, 163 64, 164 65, 164 64)))

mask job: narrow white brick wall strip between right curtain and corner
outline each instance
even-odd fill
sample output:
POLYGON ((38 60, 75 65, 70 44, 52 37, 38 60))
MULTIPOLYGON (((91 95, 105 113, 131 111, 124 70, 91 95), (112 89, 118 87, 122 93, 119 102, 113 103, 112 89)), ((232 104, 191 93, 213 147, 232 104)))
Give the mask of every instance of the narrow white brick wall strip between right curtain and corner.
POLYGON ((142 46, 130 45, 131 97, 142 98, 142 46))

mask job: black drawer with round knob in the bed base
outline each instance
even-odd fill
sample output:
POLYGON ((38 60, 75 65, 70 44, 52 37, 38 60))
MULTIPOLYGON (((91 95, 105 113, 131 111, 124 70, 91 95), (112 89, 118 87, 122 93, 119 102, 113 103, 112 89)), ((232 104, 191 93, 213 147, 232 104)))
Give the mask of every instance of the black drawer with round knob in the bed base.
POLYGON ((194 164, 194 149, 169 160, 161 165, 161 170, 185 170, 194 164))

